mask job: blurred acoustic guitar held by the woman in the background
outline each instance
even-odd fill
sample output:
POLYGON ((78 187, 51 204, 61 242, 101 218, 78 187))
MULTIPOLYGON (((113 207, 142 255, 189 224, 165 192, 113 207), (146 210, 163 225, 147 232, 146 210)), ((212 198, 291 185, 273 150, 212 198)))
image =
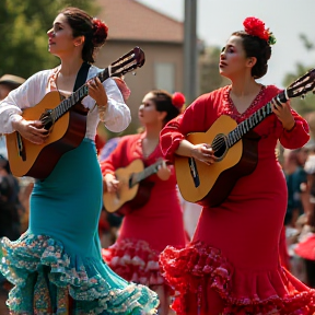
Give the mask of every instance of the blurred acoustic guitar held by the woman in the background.
POLYGON ((118 190, 115 194, 105 191, 103 195, 103 202, 106 211, 119 211, 120 214, 126 214, 121 211, 124 206, 128 206, 125 209, 138 209, 143 207, 150 198, 150 191, 154 183, 147 180, 145 185, 140 185, 140 182, 152 174, 155 174, 162 163, 163 160, 159 160, 154 164, 144 167, 143 162, 140 159, 137 159, 127 167, 117 168, 115 176, 117 180, 119 180, 118 190))

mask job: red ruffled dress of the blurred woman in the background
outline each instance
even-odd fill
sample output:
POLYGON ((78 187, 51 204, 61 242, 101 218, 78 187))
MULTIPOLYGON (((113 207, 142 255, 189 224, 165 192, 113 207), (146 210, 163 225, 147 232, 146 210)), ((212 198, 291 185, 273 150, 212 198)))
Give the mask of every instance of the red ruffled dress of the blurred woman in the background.
MULTIPOLYGON (((142 160, 145 167, 160 160, 160 145, 149 156, 143 156, 143 137, 144 133, 122 137, 101 163, 103 175, 127 167, 137 159, 142 160)), ((152 186, 149 201, 136 210, 125 203, 118 238, 109 248, 103 248, 103 259, 127 281, 148 287, 167 285, 161 275, 159 255, 167 245, 183 248, 186 244, 174 168, 168 180, 161 180, 153 174, 140 185, 152 186)))

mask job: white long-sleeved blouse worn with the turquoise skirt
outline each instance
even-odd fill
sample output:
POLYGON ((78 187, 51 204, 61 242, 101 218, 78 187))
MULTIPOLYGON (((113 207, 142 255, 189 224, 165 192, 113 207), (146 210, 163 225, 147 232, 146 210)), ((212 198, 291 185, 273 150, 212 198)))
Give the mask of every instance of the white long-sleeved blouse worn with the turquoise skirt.
MULTIPOLYGON (((94 78, 103 70, 104 69, 91 66, 88 80, 94 78)), ((45 94, 51 90, 49 79, 52 74, 54 69, 43 70, 33 74, 21 86, 13 90, 0 102, 0 133, 13 132, 12 121, 22 119, 22 109, 35 106, 42 101, 45 94)), ((125 130, 131 121, 130 109, 125 104, 120 90, 112 78, 106 79, 103 85, 108 98, 103 122, 108 130, 120 132, 125 130)), ((90 109, 86 117, 85 138, 94 140, 96 127, 100 122, 97 106, 95 106, 95 101, 90 95, 85 96, 81 103, 90 109)))

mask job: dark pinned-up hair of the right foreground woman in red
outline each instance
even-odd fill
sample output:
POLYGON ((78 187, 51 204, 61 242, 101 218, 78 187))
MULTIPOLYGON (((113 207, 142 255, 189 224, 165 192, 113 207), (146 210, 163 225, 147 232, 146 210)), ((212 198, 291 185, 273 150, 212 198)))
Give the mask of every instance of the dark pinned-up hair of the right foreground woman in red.
POLYGON ((252 69, 252 75, 259 79, 267 73, 268 60, 271 57, 271 47, 267 40, 258 36, 248 35, 244 31, 234 32, 232 36, 240 36, 243 39, 243 47, 246 57, 255 57, 257 62, 252 69))

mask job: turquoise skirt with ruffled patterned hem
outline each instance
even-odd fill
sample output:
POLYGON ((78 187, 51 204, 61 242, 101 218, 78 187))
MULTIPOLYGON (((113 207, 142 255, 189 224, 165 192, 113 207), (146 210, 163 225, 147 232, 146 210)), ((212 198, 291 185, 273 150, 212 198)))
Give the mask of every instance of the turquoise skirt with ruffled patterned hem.
POLYGON ((89 139, 34 185, 28 230, 0 243, 0 271, 14 284, 11 314, 154 314, 158 295, 102 260, 97 225, 102 174, 89 139), (69 306, 70 305, 70 306, 69 306))

